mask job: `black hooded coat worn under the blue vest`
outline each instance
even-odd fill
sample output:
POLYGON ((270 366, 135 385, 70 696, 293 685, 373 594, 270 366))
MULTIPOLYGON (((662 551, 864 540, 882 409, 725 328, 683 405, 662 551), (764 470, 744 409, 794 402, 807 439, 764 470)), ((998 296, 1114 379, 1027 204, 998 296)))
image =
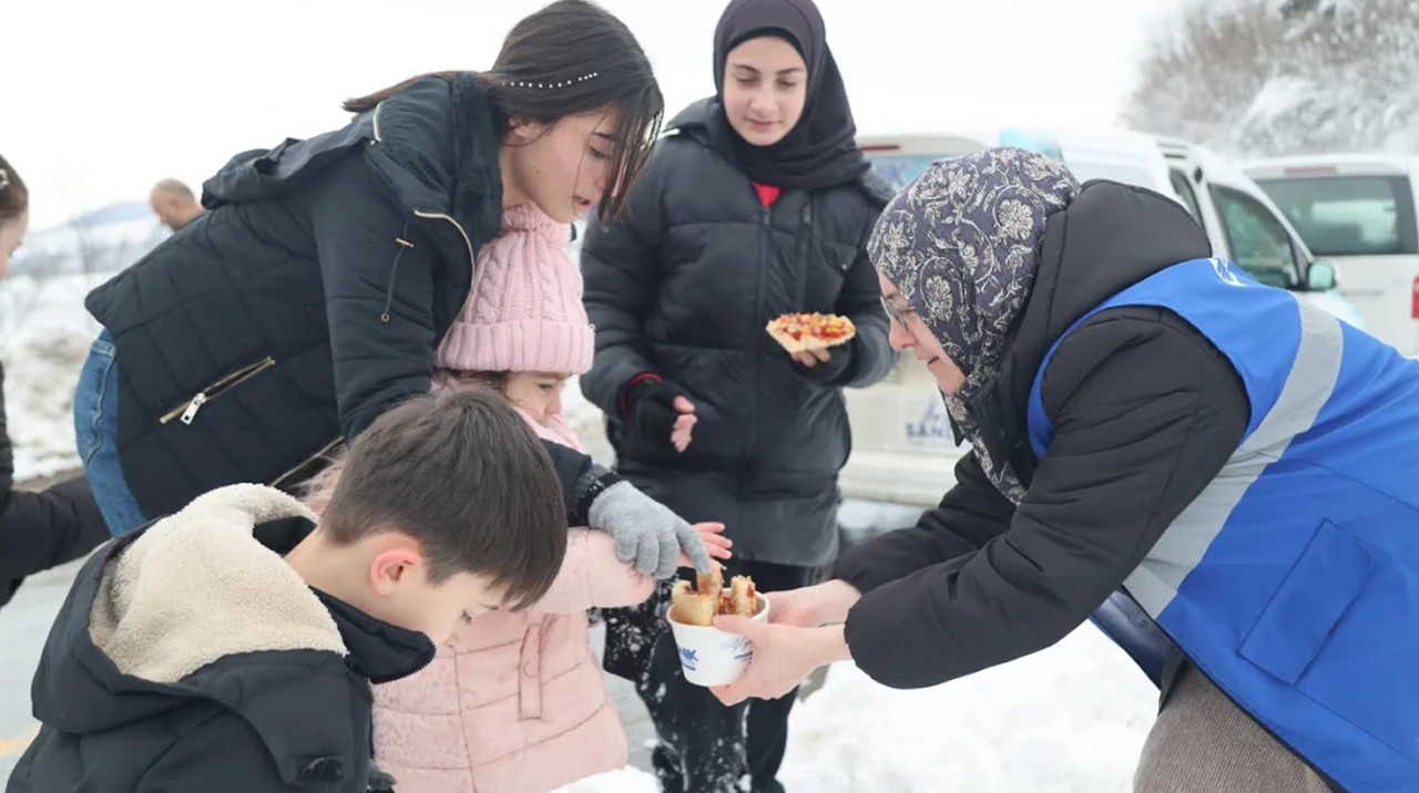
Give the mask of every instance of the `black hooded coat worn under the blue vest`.
POLYGON ((911 529, 846 553, 833 573, 864 594, 853 660, 897 688, 935 685, 1043 650, 1080 626, 1202 492, 1246 431, 1232 363, 1178 315, 1114 308, 1060 345, 1040 396, 1057 434, 1043 460, 1026 400, 1046 352, 1121 289, 1210 255, 1206 234, 1156 193, 1091 182, 1050 217, 1033 294, 995 389, 971 404, 996 458, 1027 487, 1016 508, 975 453, 911 529))

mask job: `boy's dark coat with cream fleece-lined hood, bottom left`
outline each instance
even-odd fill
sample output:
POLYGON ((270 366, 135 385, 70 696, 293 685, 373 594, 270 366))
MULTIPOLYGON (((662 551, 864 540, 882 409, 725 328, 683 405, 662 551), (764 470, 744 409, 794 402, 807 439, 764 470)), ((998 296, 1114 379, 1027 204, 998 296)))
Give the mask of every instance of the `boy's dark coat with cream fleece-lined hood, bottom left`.
POLYGON ((118 572, 150 529, 89 558, 40 657, 43 726, 6 792, 372 790, 370 680, 414 674, 434 647, 294 576, 277 555, 312 526, 277 519, 253 539, 209 516, 146 549, 166 565, 118 572), (140 596, 125 600, 119 576, 140 596))

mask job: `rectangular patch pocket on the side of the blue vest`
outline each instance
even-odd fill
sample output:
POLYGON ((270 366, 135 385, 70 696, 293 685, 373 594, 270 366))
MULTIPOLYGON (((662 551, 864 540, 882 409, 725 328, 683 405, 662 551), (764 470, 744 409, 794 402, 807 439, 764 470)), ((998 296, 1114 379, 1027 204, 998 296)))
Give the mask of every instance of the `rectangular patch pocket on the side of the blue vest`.
POLYGON ((1247 631, 1242 657, 1294 685, 1359 596, 1374 566, 1369 549, 1323 521, 1247 631))

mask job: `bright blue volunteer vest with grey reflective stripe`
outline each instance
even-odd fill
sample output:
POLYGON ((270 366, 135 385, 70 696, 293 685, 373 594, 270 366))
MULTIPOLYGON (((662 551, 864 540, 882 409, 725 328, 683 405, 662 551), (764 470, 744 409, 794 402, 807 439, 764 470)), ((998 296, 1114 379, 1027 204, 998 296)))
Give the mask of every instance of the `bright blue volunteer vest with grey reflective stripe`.
MULTIPOLYGON (((1078 322, 1128 305, 1212 340, 1252 417, 1124 582, 1145 614, 1108 619, 1115 599, 1097 621, 1115 640, 1161 628, 1345 789, 1419 790, 1419 362, 1225 260, 1169 267, 1078 322)), ((1060 340, 1030 390, 1040 458, 1054 438, 1040 382, 1060 340)))

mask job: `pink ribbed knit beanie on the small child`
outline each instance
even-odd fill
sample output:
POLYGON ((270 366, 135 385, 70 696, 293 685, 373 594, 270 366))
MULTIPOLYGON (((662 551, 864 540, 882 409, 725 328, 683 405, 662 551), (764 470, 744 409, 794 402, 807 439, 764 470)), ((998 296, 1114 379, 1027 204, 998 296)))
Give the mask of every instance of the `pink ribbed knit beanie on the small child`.
POLYGON ((592 367, 582 272, 566 258, 570 228, 535 204, 502 211, 502 233, 478 251, 473 296, 438 346, 436 366, 463 372, 592 367))

